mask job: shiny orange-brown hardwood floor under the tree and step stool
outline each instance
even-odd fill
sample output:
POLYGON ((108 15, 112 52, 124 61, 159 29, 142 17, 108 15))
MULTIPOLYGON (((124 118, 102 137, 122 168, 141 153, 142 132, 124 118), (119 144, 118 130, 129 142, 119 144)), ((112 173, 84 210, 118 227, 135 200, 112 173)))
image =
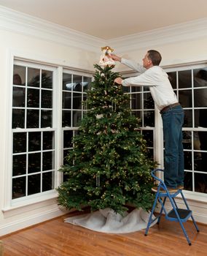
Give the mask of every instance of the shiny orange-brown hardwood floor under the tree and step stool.
POLYGON ((204 256, 207 255, 207 226, 184 223, 192 246, 179 223, 162 217, 160 225, 128 234, 106 234, 64 223, 77 212, 1 237, 4 256, 204 256))

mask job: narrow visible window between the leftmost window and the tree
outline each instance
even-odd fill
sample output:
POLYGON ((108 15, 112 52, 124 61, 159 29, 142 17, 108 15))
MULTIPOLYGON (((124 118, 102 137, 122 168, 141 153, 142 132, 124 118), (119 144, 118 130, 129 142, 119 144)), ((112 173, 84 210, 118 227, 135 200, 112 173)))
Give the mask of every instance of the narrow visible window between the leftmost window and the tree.
POLYGON ((72 138, 78 132, 79 121, 82 120, 87 106, 84 104, 86 91, 90 89, 92 76, 80 72, 63 70, 63 163, 69 150, 73 148, 72 138))

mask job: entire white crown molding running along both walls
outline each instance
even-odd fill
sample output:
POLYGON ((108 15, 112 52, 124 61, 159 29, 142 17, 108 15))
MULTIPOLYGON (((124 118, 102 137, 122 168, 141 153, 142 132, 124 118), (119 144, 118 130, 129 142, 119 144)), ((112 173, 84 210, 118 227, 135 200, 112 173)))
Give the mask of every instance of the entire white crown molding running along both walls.
POLYGON ((103 45, 111 45, 117 53, 128 53, 129 50, 207 37, 207 18, 104 40, 0 6, 0 29, 47 39, 74 48, 92 50, 95 53, 100 53, 103 45))

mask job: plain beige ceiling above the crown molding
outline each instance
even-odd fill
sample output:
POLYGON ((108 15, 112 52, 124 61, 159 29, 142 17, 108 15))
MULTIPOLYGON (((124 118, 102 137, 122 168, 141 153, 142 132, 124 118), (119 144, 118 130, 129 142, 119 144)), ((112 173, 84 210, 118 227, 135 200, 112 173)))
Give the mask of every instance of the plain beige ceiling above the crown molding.
POLYGON ((106 40, 207 17, 206 0, 0 0, 0 5, 106 40))

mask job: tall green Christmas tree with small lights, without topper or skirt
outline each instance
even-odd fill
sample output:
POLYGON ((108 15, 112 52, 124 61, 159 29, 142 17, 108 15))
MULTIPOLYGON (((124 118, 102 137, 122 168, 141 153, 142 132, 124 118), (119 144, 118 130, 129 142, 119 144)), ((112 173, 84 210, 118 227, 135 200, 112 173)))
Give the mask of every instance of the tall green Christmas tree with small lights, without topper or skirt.
POLYGON ((94 65, 87 91, 87 111, 74 137, 74 148, 60 168, 66 181, 58 187, 58 203, 91 211, 112 208, 123 214, 133 204, 149 210, 154 201, 146 141, 138 132, 139 120, 130 111, 130 99, 114 84, 113 66, 94 65))

